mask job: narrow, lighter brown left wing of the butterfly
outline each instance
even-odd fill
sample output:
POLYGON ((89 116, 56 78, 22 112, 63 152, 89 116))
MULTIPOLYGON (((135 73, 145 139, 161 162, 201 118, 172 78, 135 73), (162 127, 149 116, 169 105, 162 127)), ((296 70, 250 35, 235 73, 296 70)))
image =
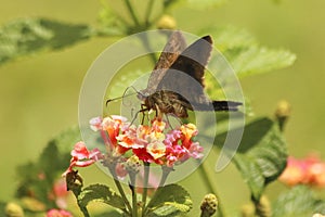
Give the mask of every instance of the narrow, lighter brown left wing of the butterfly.
POLYGON ((185 48, 186 42, 182 34, 180 31, 173 31, 150 76, 147 88, 143 90, 144 93, 152 94, 157 90, 159 81, 162 79, 168 68, 170 68, 185 48))

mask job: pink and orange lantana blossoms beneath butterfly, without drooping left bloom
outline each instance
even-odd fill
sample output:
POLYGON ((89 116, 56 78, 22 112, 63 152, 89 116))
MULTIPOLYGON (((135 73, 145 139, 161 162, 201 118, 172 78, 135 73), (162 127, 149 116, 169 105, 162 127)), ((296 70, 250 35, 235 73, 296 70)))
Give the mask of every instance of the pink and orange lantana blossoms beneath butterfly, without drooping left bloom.
POLYGON ((140 161, 172 167, 188 159, 200 158, 203 148, 193 141, 197 128, 185 124, 177 129, 169 129, 161 118, 154 118, 150 125, 130 125, 127 118, 112 115, 90 120, 91 128, 100 131, 114 156, 127 155, 129 152, 140 161))

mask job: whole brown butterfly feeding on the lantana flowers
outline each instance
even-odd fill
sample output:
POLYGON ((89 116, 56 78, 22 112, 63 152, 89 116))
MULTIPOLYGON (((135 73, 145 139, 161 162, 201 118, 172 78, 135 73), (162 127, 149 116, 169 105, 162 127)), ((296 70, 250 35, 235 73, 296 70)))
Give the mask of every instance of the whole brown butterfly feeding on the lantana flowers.
POLYGON ((234 101, 210 101, 204 93, 204 72, 212 50, 212 39, 205 36, 186 48, 180 31, 174 31, 151 74, 147 88, 138 98, 144 110, 187 117, 191 111, 237 111, 234 101))

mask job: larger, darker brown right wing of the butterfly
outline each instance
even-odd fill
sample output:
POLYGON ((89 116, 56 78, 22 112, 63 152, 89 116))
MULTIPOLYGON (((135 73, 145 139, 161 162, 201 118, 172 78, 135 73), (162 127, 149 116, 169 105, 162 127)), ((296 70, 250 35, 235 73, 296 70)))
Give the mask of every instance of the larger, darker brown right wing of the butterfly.
POLYGON ((196 105, 210 104, 204 93, 204 73, 211 50, 210 36, 196 40, 172 63, 158 84, 157 90, 173 91, 196 105))

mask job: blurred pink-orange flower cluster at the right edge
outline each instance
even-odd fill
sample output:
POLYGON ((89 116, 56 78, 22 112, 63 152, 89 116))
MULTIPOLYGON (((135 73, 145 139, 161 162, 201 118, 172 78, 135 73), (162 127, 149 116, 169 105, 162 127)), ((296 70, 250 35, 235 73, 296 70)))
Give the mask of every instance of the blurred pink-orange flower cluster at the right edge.
POLYGON ((280 180, 288 186, 309 184, 325 187, 325 162, 317 156, 311 155, 302 159, 289 156, 287 166, 280 180))

